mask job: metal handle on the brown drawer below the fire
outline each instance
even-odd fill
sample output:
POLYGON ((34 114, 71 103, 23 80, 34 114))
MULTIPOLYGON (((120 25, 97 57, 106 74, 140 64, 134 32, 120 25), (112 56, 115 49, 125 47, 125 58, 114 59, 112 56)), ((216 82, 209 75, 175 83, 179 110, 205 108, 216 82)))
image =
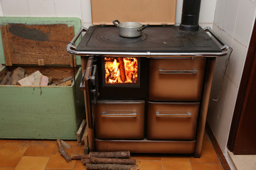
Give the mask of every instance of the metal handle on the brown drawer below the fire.
POLYGON ((115 111, 102 111, 102 117, 111 117, 111 118, 136 118, 137 112, 136 111, 122 111, 122 110, 115 110, 115 111))

